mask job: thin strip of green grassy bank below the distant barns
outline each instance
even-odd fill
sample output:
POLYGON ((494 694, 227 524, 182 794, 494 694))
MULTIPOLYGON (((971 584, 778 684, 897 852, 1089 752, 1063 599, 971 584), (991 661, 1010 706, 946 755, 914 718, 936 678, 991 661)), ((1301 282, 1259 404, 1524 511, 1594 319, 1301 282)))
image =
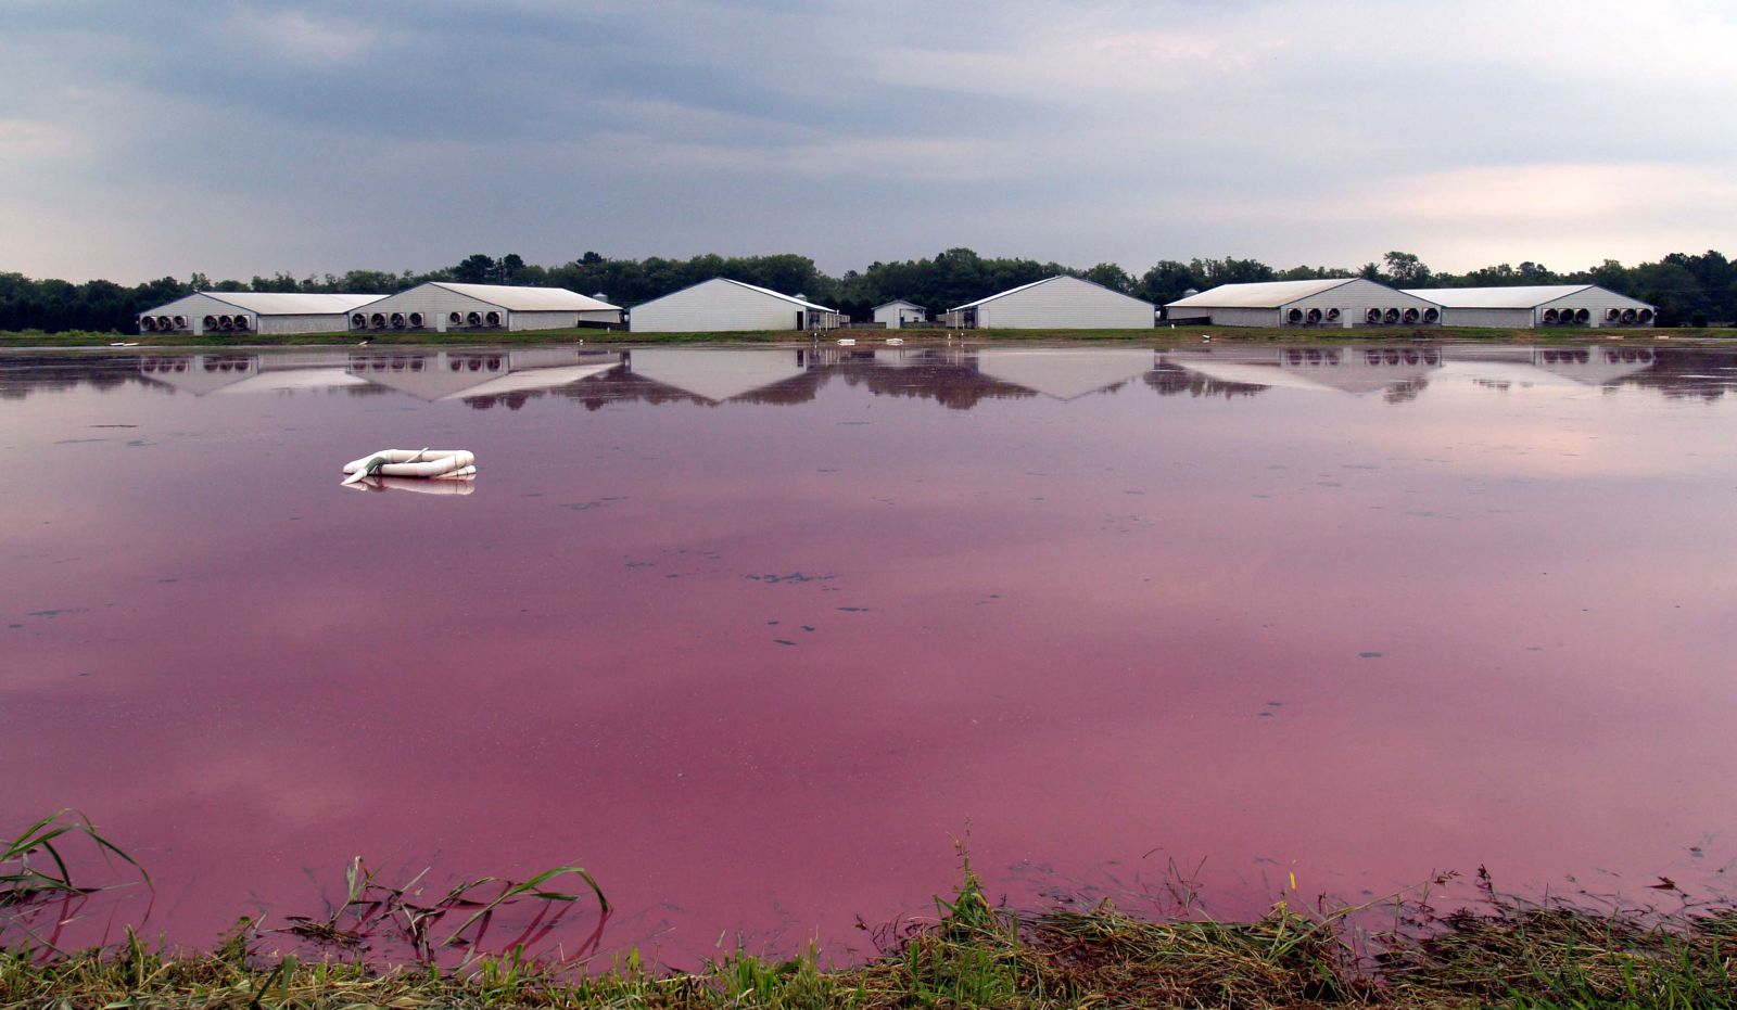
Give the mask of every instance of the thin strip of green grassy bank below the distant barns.
MULTIPOLYGON (((1299 328, 1261 328, 1261 326, 1178 326, 1169 325, 1155 330, 966 330, 954 331, 971 344, 1013 344, 1013 342, 1117 342, 1117 344, 1172 344, 1199 342, 1202 335, 1211 335, 1216 342, 1226 344, 1393 344, 1410 340, 1454 340, 1454 342, 1494 342, 1494 344, 1586 344, 1621 338, 1624 342, 1732 342, 1737 340, 1737 328, 1600 328, 1586 326, 1560 330, 1496 330, 1476 326, 1452 328, 1409 328, 1409 326, 1367 326, 1351 330, 1299 330, 1299 328)), ((902 337, 907 345, 945 344, 947 330, 830 330, 820 335, 820 342, 830 344, 839 338, 855 338, 879 344, 888 337, 902 337)), ((224 347, 231 351, 257 347, 320 347, 320 345, 354 345, 363 338, 370 347, 476 347, 476 345, 540 345, 573 344, 584 340, 585 345, 610 344, 804 344, 811 337, 796 331, 752 331, 752 333, 629 333, 624 330, 530 330, 530 331, 389 331, 389 333, 294 333, 294 335, 259 335, 245 337, 208 333, 193 337, 188 333, 40 333, 40 331, 0 331, 0 347, 108 347, 116 342, 137 342, 139 347, 224 347)))

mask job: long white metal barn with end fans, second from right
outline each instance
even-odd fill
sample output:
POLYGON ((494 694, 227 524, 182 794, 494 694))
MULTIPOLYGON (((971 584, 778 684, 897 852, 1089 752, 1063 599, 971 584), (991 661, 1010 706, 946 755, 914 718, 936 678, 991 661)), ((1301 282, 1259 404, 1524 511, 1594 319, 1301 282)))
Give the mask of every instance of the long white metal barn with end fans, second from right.
POLYGON ((1219 285, 1164 307, 1212 326, 1435 326, 1442 305, 1364 278, 1219 285))

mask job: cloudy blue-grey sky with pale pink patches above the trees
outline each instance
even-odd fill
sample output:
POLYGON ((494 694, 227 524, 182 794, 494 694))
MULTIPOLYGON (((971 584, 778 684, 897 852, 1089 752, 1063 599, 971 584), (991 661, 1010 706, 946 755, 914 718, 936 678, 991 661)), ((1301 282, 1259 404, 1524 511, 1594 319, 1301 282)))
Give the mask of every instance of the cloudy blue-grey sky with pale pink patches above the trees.
POLYGON ((1707 0, 0 0, 0 271, 1732 248, 1707 0))

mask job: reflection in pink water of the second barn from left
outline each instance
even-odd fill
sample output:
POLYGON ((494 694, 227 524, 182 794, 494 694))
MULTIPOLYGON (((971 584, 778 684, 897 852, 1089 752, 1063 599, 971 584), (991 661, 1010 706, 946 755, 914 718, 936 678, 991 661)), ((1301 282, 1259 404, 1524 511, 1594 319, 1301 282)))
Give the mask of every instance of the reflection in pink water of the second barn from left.
POLYGON ((577 347, 530 347, 434 354, 353 351, 346 370, 373 385, 433 403, 556 389, 603 375, 620 364, 620 354, 587 354, 577 347))

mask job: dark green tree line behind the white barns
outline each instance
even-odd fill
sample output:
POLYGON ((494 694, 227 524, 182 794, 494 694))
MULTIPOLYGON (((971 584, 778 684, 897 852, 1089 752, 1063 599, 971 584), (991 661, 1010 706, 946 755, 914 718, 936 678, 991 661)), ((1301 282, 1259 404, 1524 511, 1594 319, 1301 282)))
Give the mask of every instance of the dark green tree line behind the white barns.
POLYGON ((429 272, 347 271, 306 278, 280 272, 269 278, 255 276, 248 281, 222 279, 215 283, 205 274, 193 274, 186 281, 162 278, 134 286, 113 281, 75 285, 0 272, 0 331, 92 330, 127 333, 132 331, 134 318, 139 312, 193 292, 389 295, 424 281, 570 288, 582 295, 603 295, 617 305, 632 307, 688 285, 712 278, 731 278, 789 295, 801 293, 809 300, 832 305, 853 319, 867 319, 875 305, 895 298, 905 298, 936 312, 1054 274, 1086 278, 1159 305, 1181 298, 1188 290, 1204 292, 1218 285, 1318 278, 1369 278, 1400 288, 1602 285, 1657 305, 1661 326, 1706 326, 1737 319, 1737 266, 1713 250, 1671 253, 1657 262, 1638 266, 1605 260, 1596 267, 1570 272, 1522 262, 1518 267, 1497 264, 1466 274, 1431 271, 1417 255, 1407 252, 1390 252, 1379 262, 1367 262, 1357 269, 1299 266, 1280 271, 1259 260, 1226 257, 1192 259, 1188 262, 1159 260, 1136 278, 1117 264, 1080 269, 1028 259, 981 257, 968 248, 950 248, 933 259, 874 262, 863 271, 846 271, 837 278, 816 269, 815 260, 796 253, 632 260, 608 259, 596 252, 552 267, 526 264, 518 253, 499 259, 474 253, 455 266, 429 272))

